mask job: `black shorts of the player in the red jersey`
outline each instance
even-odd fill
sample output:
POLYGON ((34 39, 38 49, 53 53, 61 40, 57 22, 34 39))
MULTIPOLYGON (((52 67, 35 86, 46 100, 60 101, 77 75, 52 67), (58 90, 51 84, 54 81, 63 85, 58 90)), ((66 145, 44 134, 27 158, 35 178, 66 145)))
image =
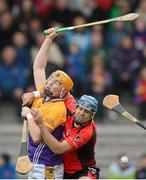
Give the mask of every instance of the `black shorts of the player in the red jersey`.
POLYGON ((79 179, 80 177, 87 176, 90 179, 99 179, 99 168, 87 167, 74 174, 64 172, 64 179, 79 179))

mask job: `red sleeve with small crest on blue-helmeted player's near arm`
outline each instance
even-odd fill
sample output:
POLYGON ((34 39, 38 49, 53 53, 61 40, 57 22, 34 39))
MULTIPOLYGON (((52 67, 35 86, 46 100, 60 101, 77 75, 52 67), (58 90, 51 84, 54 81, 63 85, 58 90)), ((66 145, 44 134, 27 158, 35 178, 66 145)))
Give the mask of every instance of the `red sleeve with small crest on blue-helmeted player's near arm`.
POLYGON ((81 130, 79 133, 73 134, 65 140, 70 144, 72 150, 79 149, 84 146, 92 136, 93 128, 81 130))

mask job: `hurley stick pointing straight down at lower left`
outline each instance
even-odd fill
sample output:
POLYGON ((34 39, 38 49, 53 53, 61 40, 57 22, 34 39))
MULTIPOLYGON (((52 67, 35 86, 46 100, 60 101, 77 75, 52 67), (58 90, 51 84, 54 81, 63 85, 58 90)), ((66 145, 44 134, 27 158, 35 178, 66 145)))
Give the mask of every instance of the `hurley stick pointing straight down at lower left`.
POLYGON ((24 120, 20 153, 16 164, 16 172, 22 175, 28 174, 33 169, 33 164, 31 163, 27 155, 27 134, 27 120, 24 120))

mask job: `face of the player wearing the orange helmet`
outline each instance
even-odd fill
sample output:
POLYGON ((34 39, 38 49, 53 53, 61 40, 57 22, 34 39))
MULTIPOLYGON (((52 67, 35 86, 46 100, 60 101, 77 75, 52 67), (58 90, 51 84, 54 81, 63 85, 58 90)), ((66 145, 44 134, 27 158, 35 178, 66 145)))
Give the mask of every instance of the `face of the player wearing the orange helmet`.
POLYGON ((46 81, 46 86, 44 89, 45 95, 50 97, 60 96, 62 90, 62 84, 59 79, 56 78, 54 74, 51 74, 46 81))

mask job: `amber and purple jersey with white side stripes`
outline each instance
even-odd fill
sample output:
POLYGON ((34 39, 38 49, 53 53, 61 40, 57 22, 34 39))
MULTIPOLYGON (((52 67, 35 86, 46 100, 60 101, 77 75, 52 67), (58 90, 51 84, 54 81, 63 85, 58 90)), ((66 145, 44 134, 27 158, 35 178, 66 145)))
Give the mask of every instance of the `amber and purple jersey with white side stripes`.
MULTIPOLYGON (((35 99, 33 107, 39 109, 45 126, 52 130, 52 134, 56 139, 60 140, 66 122, 64 100, 58 98, 38 98, 35 99)), ((55 155, 44 141, 35 144, 31 136, 29 136, 28 155, 34 164, 54 166, 62 163, 61 158, 55 155)))

